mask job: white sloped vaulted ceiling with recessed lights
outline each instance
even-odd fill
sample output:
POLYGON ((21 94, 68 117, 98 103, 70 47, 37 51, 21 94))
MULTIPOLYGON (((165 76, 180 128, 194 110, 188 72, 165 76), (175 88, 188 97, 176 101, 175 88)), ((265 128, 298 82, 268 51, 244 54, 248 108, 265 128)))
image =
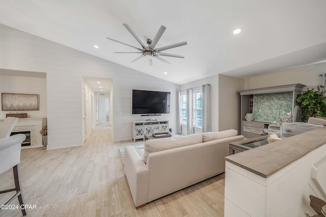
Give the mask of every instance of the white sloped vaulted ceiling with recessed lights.
POLYGON ((0 23, 123 66, 184 84, 223 73, 247 77, 326 60, 324 0, 0 0, 0 23), (122 25, 146 44, 167 27, 157 47, 187 41, 164 52, 185 55, 153 59, 107 40, 140 47, 122 25), (239 35, 233 35, 241 28, 239 35), (99 46, 99 49, 93 47, 99 46), (163 72, 168 74, 163 74, 163 72))

